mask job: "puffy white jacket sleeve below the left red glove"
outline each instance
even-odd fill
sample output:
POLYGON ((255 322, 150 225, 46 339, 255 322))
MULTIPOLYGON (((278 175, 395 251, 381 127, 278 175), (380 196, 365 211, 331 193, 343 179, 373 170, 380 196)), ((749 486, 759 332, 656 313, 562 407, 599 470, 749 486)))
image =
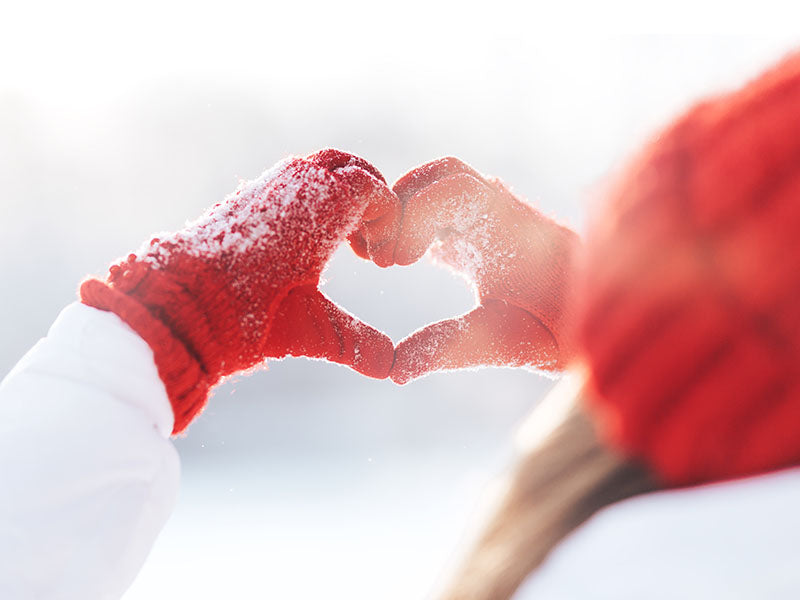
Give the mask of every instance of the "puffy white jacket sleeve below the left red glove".
POLYGON ((172 421, 147 344, 64 309, 0 384, 0 598, 123 594, 175 503, 172 421))

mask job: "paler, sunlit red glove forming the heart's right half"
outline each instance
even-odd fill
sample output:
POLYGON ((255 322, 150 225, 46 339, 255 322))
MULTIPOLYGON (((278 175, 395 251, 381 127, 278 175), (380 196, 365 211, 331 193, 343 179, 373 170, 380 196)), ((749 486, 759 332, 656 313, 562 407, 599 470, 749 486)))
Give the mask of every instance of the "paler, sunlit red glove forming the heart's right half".
POLYGON ((478 306, 413 333, 395 350, 390 377, 406 383, 431 371, 478 365, 562 368, 564 297, 578 237, 455 158, 403 176, 397 264, 434 256, 475 285, 478 306))

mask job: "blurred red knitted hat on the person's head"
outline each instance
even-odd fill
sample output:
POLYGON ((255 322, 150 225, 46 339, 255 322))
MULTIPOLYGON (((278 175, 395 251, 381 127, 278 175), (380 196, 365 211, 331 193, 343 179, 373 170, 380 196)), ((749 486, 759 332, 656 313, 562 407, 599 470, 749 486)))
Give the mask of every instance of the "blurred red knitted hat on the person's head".
POLYGON ((612 444, 672 485, 800 464, 800 54, 645 148, 578 286, 612 444))

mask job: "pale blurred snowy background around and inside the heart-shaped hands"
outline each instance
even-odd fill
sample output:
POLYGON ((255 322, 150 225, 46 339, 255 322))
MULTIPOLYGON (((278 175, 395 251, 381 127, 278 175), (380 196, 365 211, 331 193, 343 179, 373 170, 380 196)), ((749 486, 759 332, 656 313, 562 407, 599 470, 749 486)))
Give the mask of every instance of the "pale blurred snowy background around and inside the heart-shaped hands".
MULTIPOLYGON (((335 146, 389 180, 452 154, 580 228, 659 125, 798 41, 546 29, 501 5, 6 11, 0 375, 84 276, 289 153, 335 146)), ((395 341, 473 302, 447 272, 346 248, 325 279, 395 341)), ((225 385, 175 442, 178 506, 125 600, 427 596, 551 385, 494 369, 399 388, 299 359, 225 385)))

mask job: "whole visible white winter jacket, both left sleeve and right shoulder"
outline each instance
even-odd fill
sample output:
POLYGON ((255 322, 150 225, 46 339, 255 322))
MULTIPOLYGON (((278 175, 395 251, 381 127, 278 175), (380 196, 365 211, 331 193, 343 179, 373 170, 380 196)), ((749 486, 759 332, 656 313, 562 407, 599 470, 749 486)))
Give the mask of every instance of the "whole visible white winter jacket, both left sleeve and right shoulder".
MULTIPOLYGON (((67 307, 0 385, 0 599, 119 598, 176 497, 149 347, 67 307)), ((515 600, 800 598, 800 469, 611 506, 515 600)))

